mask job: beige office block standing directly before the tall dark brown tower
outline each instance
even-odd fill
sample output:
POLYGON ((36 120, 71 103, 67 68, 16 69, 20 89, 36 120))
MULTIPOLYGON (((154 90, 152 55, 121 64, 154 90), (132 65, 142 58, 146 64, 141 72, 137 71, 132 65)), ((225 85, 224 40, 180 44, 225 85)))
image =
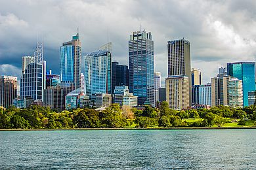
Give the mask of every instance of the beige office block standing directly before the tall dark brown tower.
POLYGON ((187 109, 189 105, 188 76, 169 76, 165 79, 166 101, 169 108, 175 110, 187 109))

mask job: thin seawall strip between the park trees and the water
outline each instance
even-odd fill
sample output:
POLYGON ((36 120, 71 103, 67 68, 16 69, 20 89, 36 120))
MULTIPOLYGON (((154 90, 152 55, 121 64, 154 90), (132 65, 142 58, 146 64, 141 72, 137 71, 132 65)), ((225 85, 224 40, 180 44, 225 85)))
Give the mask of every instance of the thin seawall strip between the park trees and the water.
POLYGON ((190 130, 190 129, 256 129, 251 127, 148 127, 148 128, 70 128, 70 129, 0 129, 0 131, 70 131, 70 130, 190 130))

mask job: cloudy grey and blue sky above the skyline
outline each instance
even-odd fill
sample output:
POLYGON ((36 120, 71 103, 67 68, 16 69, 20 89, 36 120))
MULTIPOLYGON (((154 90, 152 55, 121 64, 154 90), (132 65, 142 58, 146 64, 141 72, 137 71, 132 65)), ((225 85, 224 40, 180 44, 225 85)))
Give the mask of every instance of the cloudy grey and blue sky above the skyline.
POLYGON ((21 75, 22 56, 32 55, 44 41, 47 70, 59 74, 59 49, 77 33, 82 54, 112 41, 113 58, 128 64, 133 31, 150 31, 155 71, 167 76, 167 41, 190 41, 191 65, 203 83, 228 62, 255 61, 256 1, 39 1, 0 0, 0 75, 21 75))

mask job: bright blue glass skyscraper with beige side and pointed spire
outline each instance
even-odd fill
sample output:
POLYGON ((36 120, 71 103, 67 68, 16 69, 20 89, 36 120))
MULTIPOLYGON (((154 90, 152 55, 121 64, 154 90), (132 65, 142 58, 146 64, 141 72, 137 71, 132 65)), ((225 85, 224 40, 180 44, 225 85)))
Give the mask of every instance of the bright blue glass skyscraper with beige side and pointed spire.
POLYGON ((77 33, 72 37, 72 41, 63 42, 60 46, 60 81, 74 84, 74 88, 77 89, 80 88, 80 75, 81 41, 77 33))

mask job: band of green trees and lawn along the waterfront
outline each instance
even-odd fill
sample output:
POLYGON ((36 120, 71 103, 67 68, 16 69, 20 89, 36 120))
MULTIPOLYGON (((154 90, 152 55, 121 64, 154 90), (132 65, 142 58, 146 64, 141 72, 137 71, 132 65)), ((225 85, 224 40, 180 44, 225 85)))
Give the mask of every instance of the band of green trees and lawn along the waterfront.
POLYGON ((1 129, 58 128, 123 128, 123 127, 222 127, 225 124, 247 126, 256 124, 256 106, 211 109, 172 110, 163 101, 160 108, 146 106, 143 110, 113 104, 101 112, 75 109, 56 112, 48 107, 32 105, 28 109, 0 108, 1 129))

